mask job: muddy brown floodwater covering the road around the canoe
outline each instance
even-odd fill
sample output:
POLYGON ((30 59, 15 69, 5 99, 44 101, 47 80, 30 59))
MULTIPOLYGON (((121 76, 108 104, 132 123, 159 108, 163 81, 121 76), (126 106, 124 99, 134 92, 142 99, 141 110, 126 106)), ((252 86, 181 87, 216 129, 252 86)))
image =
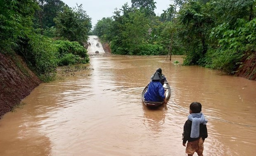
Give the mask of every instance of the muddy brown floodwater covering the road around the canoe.
POLYGON ((204 156, 254 156, 256 81, 173 61, 91 57, 89 70, 40 84, 0 120, 0 156, 185 156, 183 125, 194 101, 209 119, 204 156), (171 85, 167 110, 141 101, 159 67, 171 85))

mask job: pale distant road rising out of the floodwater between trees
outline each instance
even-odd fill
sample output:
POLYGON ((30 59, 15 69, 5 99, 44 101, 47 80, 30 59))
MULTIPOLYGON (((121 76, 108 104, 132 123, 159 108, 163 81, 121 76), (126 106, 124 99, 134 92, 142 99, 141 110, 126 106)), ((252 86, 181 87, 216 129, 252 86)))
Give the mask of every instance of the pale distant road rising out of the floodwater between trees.
POLYGON ((92 54, 92 53, 95 54, 96 51, 99 51, 99 53, 105 53, 98 36, 89 35, 88 37, 89 37, 88 43, 91 44, 87 48, 87 51, 89 54, 92 54))

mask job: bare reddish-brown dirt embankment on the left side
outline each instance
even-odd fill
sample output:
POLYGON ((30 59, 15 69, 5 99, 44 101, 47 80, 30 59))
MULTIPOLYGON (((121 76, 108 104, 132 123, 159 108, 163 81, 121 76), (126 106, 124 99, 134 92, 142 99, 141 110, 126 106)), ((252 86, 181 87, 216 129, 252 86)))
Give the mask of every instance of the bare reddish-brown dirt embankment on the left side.
POLYGON ((21 57, 0 53, 0 118, 14 109, 40 83, 21 57))

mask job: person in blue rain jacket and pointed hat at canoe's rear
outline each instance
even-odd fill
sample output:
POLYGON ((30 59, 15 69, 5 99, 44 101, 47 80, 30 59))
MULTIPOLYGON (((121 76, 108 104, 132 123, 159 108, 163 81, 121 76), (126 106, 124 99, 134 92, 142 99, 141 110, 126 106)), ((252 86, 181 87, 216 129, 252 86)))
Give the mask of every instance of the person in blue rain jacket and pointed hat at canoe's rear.
POLYGON ((151 77, 152 81, 149 83, 147 92, 144 95, 146 101, 167 103, 164 86, 161 83, 164 82, 164 78, 165 77, 158 71, 154 73, 151 77))

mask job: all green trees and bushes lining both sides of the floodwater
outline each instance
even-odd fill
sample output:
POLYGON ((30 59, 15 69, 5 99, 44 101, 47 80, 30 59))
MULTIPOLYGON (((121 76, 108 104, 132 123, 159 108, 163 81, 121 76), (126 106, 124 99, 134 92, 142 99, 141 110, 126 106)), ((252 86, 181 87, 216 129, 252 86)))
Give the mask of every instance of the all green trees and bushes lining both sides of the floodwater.
POLYGON ((154 13, 154 0, 131 0, 131 4, 116 8, 92 30, 82 5, 0 0, 0 52, 24 57, 43 81, 55 77, 57 66, 89 62, 83 47, 89 34, 109 43, 113 54, 170 59, 172 54, 183 54, 184 65, 229 74, 256 57, 255 0, 173 0, 160 15, 154 13))

